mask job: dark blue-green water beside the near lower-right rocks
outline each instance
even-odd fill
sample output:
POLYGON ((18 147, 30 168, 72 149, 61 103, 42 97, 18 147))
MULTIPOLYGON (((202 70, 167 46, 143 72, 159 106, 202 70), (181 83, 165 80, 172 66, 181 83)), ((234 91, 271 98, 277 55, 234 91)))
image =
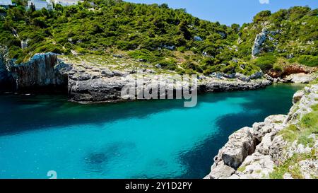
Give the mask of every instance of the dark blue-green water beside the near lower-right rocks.
POLYGON ((242 103, 245 113, 234 113, 219 117, 216 125, 220 132, 208 137, 201 144, 190 151, 180 153, 182 164, 188 165, 187 172, 179 178, 203 178, 210 172, 213 157, 228 141, 228 136, 242 127, 252 127, 254 122, 263 122, 269 115, 287 114, 293 105, 293 93, 302 88, 302 85, 290 87, 289 85, 271 86, 264 90, 253 92, 234 92, 233 97, 245 95, 249 101, 242 103), (279 99, 279 100, 277 100, 279 99))

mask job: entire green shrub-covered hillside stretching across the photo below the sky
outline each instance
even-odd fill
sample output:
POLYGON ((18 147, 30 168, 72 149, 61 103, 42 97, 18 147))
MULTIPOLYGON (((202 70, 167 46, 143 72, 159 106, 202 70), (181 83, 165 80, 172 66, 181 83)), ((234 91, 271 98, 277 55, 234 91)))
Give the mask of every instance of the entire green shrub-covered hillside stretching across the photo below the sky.
POLYGON ((180 74, 252 74, 259 66, 270 69, 269 61, 272 64, 293 53, 289 62, 317 65, 317 9, 264 11, 255 16, 254 23, 240 28, 203 21, 166 4, 93 0, 78 6, 55 5, 53 11, 25 10, 24 0, 17 4, 0 10, 0 44, 9 48, 8 55, 16 63, 37 52, 120 53, 180 74), (266 40, 259 58, 251 59, 254 39, 267 25, 269 30, 281 30, 273 36, 278 45, 266 40), (22 48, 21 41, 27 46, 22 48))

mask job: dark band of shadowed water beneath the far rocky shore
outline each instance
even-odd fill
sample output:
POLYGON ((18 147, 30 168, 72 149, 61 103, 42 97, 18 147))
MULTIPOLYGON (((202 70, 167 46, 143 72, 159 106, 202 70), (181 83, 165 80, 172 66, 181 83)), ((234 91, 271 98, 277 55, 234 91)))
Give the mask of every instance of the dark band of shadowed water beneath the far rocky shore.
MULTIPOLYGON (((200 95, 201 103, 225 100, 231 93, 200 95)), ((79 104, 67 101, 64 95, 0 95, 0 135, 76 124, 102 124, 118 119, 145 119, 166 110, 191 110, 184 100, 151 100, 123 103, 79 104)))

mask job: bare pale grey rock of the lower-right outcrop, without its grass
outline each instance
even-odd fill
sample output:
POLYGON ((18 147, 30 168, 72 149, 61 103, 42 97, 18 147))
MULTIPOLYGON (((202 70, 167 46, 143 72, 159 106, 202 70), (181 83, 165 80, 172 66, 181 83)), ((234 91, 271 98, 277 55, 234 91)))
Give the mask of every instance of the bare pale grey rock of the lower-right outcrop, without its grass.
MULTIPOLYGON (((294 141, 290 145, 280 134, 282 129, 285 129, 290 124, 297 124, 304 115, 311 112, 312 105, 318 104, 317 99, 318 84, 306 87, 294 95, 293 102, 294 104, 297 103, 297 105, 293 105, 288 115, 271 115, 264 122, 254 123, 252 129, 245 127, 232 134, 228 143, 220 149, 218 156, 214 158, 211 173, 205 178, 269 178, 270 173, 273 172, 276 165, 284 163, 285 160, 291 158, 295 153, 301 155, 312 153, 313 150, 317 151, 317 134, 310 136, 312 141, 315 141, 313 146, 304 146, 303 144, 299 144, 298 141, 294 141), (246 135, 246 131, 248 130, 249 137, 246 135), (244 141, 248 141, 248 139, 254 139, 256 148, 254 148, 254 151, 253 148, 250 148, 252 152, 244 156, 246 153, 243 153, 243 150, 246 149, 246 144, 248 144, 244 141), (235 172, 232 173, 232 170, 224 165, 230 166, 235 172), (237 168, 237 166, 239 167, 237 168)), ((293 167, 298 167, 301 175, 305 178, 317 177, 318 175, 317 160, 311 158, 301 160, 299 163, 295 163, 293 167)), ((290 179, 293 176, 285 173, 283 178, 290 179)))

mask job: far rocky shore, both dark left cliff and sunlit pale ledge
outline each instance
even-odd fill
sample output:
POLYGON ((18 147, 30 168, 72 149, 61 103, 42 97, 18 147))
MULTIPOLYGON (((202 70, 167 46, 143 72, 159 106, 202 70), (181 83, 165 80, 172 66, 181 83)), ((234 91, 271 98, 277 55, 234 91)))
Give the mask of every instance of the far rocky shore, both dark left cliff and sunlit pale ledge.
MULTIPOLYGON (((33 93, 35 90, 62 92, 67 90, 69 100, 83 103, 122 101, 122 88, 136 76, 146 77, 143 83, 145 88, 157 78, 152 71, 138 73, 131 70, 111 71, 103 66, 66 64, 54 53, 35 54, 29 62, 18 65, 1 59, 1 64, 2 71, 7 71, 6 77, 13 80, 11 81, 13 88, 18 93, 33 93)), ((261 73, 251 77, 240 74, 232 76, 232 78, 225 78, 222 74, 213 77, 199 76, 198 92, 252 90, 271 85, 271 81, 262 78, 261 73)))

